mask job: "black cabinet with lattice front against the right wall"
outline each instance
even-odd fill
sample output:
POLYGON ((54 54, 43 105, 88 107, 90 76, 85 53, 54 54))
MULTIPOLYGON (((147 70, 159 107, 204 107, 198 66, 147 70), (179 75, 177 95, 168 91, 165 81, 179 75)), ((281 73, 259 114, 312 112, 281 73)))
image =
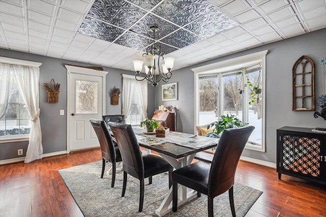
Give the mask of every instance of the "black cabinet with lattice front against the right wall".
POLYGON ((277 172, 326 184, 326 135, 309 128, 277 130, 277 172))

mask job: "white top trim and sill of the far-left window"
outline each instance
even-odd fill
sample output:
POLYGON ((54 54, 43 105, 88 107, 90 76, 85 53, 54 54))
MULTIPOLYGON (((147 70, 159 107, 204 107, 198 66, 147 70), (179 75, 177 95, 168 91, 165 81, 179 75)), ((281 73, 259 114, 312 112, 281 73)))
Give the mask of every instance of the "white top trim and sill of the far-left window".
MULTIPOLYGON (((0 63, 6 64, 14 64, 20 66, 31 66, 31 67, 40 67, 42 63, 28 61, 28 60, 21 60, 21 59, 13 59, 8 57, 0 56, 0 63)), ((7 142, 20 142, 20 141, 29 141, 30 134, 23 134, 23 135, 15 135, 15 136, 8 136, 7 138, 1 138, 0 143, 7 143, 7 142)))

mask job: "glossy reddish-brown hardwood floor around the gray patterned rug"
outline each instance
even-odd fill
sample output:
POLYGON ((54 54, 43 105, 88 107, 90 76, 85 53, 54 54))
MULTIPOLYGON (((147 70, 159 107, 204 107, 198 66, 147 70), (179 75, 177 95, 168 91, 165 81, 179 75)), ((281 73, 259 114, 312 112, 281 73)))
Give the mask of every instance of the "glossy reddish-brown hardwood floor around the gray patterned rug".
MULTIPOLYGON (((92 149, 1 165, 0 216, 83 216, 58 170, 100 160, 100 149, 92 149)), ((263 191, 246 216, 326 216, 325 185, 287 175, 279 180, 276 169, 244 161, 235 181, 263 191)))

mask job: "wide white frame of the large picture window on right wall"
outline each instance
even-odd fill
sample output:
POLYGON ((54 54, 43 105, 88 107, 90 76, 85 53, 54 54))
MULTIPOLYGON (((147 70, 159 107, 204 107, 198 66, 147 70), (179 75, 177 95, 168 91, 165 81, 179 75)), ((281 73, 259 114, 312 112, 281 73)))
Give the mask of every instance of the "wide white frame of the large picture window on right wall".
POLYGON ((222 72, 228 72, 232 70, 238 70, 241 67, 248 67, 252 66, 256 63, 261 63, 261 69, 263 72, 263 105, 262 105, 262 145, 261 147, 256 147, 250 143, 247 143, 246 149, 251 150, 257 150, 257 151, 263 151, 265 152, 265 104, 266 104, 266 91, 265 91, 265 80, 266 80, 266 54, 268 53, 268 50, 263 50, 260 52, 239 56, 236 58, 220 61, 218 63, 209 64, 202 67, 193 68, 192 71, 194 72, 194 82, 195 82, 195 125, 194 125, 194 132, 196 132, 196 126, 199 123, 199 76, 202 75, 210 75, 210 74, 217 74, 222 72))

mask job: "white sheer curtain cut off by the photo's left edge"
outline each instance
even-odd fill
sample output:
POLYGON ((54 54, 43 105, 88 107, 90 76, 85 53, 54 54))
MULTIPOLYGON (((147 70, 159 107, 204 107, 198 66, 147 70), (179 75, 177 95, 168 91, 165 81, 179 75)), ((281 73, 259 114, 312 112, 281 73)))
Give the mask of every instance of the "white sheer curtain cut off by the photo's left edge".
POLYGON ((0 119, 6 113, 9 98, 10 66, 0 63, 0 119))

